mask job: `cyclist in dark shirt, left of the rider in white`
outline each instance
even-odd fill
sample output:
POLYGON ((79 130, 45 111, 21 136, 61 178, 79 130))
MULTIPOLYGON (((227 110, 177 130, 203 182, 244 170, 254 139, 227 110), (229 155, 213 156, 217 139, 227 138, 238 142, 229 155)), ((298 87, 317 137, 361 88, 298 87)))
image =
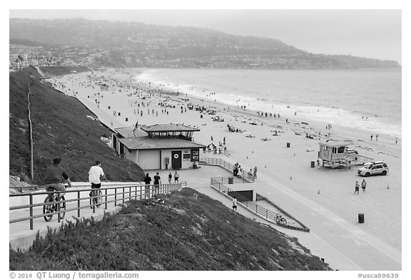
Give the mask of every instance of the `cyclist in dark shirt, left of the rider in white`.
MULTIPOLYGON (((53 160, 53 165, 49 165, 46 168, 46 175, 44 175, 44 187, 46 188, 46 192, 52 191, 64 191, 66 187, 62 184, 61 178, 66 181, 68 187, 71 187, 70 178, 68 178, 66 170, 60 166, 61 158, 55 157, 53 160)), ((53 201, 53 194, 47 194, 50 198, 50 201, 53 201)), ((62 197, 64 193, 61 193, 60 196, 62 197)))

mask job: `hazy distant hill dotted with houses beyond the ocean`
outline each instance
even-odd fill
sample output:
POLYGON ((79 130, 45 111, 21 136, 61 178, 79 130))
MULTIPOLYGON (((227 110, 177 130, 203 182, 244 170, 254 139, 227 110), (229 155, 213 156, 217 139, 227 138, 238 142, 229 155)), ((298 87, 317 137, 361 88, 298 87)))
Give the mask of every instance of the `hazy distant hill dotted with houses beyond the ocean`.
POLYGON ((308 53, 271 39, 206 28, 86 19, 10 19, 10 43, 43 46, 44 56, 76 54, 90 66, 185 68, 400 67, 395 61, 308 53), (49 53, 47 53, 49 51, 49 53))

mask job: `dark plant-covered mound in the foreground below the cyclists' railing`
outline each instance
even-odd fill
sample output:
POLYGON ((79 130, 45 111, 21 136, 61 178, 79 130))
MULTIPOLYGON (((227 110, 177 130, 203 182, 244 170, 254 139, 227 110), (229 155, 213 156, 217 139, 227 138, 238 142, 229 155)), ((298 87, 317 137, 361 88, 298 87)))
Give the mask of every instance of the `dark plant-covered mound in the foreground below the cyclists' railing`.
POLYGON ((330 270, 296 239, 185 188, 10 249, 10 270, 330 270), (193 199, 198 195, 198 200, 193 199), (293 246, 291 246, 293 245, 293 246))

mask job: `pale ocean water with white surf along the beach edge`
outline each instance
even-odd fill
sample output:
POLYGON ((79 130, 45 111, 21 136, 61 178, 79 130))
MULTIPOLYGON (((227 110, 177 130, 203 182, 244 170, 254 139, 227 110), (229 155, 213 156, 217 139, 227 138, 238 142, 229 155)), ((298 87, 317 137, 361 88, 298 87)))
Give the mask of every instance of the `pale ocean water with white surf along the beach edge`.
POLYGON ((139 69, 136 81, 282 118, 401 138, 401 70, 139 69))

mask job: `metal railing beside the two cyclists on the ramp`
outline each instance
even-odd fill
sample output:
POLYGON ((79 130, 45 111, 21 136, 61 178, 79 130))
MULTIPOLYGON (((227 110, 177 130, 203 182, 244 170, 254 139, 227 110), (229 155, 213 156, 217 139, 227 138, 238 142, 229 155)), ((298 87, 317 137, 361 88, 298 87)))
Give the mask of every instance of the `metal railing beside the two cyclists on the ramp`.
MULTIPOLYGON (((114 203, 114 206, 116 207, 118 202, 122 201, 122 204, 125 203, 126 199, 131 201, 131 199, 146 199, 147 197, 153 197, 153 195, 156 194, 165 194, 168 192, 172 192, 173 190, 180 190, 181 187, 187 186, 187 182, 183 181, 178 184, 161 184, 158 185, 158 190, 156 190, 155 185, 144 185, 144 184, 133 184, 131 183, 130 185, 120 185, 120 186, 114 186, 114 187, 101 187, 101 192, 103 192, 102 197, 102 202, 99 203, 101 205, 104 205, 104 209, 107 209, 107 205, 110 203, 114 203), (146 192, 146 187, 148 187, 148 192, 146 192), (121 192, 118 192, 118 190, 121 190, 121 192), (114 191, 113 193, 108 193, 108 191, 114 191), (127 195, 127 196, 126 196, 127 195), (113 199, 110 199, 112 198, 113 199)), ((24 193, 19 193, 19 194, 9 194, 9 197, 29 197, 29 204, 21 204, 18 206, 11 206, 9 207, 9 211, 14 211, 14 210, 19 210, 19 209, 28 209, 29 210, 29 215, 28 217, 20 217, 18 219, 10 219, 9 224, 16 223, 16 222, 23 222, 23 221, 30 221, 30 229, 33 229, 33 222, 34 219, 38 219, 41 217, 49 216, 50 213, 46 214, 36 214, 34 215, 34 208, 36 207, 44 207, 45 205, 53 205, 56 204, 56 202, 41 202, 41 203, 33 203, 33 198, 36 196, 41 196, 41 195, 57 195, 60 197, 61 193, 67 194, 67 193, 77 193, 77 198, 71 198, 67 199, 64 202, 66 203, 66 209, 60 210, 59 209, 59 204, 58 205, 58 211, 53 212, 53 214, 57 214, 57 220, 60 222, 60 214, 64 212, 72 212, 77 210, 77 217, 81 217, 81 209, 84 208, 90 208, 91 205, 87 204, 84 206, 81 206, 80 202, 83 200, 89 200, 93 197, 90 197, 89 195, 81 197, 82 192, 91 192, 92 190, 96 189, 81 189, 81 190, 64 190, 64 191, 54 191, 54 192, 24 192, 24 193), (77 202, 76 207, 70 207, 68 208, 67 205, 70 202, 77 202)), ((96 212, 96 207, 93 205, 93 213, 96 212)))

